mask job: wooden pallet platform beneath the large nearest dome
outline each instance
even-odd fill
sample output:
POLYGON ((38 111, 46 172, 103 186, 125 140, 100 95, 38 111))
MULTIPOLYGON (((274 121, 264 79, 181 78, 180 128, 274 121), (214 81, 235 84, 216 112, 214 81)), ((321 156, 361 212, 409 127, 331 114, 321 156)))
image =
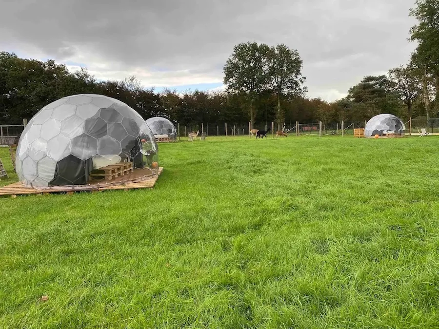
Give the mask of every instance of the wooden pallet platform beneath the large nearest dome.
POLYGON ((11 196, 12 198, 16 198, 17 195, 27 195, 27 194, 59 194, 59 193, 67 193, 69 195, 74 194, 75 192, 101 192, 106 190, 123 190, 128 191, 132 189, 152 189, 154 185, 156 185, 157 180, 159 179, 160 174, 163 171, 163 167, 159 168, 159 173, 154 177, 151 177, 147 180, 143 180, 140 182, 133 182, 127 184, 113 185, 113 186, 105 186, 105 187, 97 187, 97 186, 81 186, 80 189, 72 189, 65 188, 62 189, 61 186, 58 186, 56 189, 45 189, 45 190, 37 190, 31 187, 24 187, 21 182, 16 182, 4 187, 0 188, 0 195, 3 196, 11 196))

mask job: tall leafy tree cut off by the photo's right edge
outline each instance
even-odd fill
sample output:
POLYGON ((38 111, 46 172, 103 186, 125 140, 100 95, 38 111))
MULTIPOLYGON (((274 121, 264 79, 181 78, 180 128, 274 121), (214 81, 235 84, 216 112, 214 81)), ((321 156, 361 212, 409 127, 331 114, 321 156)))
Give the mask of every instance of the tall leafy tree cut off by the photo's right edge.
POLYGON ((439 2, 438 0, 417 0, 410 16, 418 24, 410 29, 410 39, 418 41, 415 58, 423 68, 423 93, 425 106, 429 108, 428 75, 433 75, 436 85, 435 109, 439 112, 439 2))

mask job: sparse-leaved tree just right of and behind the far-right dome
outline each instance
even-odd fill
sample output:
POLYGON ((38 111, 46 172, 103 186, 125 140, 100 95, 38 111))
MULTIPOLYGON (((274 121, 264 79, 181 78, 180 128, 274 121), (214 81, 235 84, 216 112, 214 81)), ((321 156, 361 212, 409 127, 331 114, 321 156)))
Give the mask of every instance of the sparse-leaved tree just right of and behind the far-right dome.
POLYGON ((412 116, 412 104, 419 97, 422 82, 413 64, 399 66, 389 70, 389 80, 393 91, 407 105, 408 117, 412 116))

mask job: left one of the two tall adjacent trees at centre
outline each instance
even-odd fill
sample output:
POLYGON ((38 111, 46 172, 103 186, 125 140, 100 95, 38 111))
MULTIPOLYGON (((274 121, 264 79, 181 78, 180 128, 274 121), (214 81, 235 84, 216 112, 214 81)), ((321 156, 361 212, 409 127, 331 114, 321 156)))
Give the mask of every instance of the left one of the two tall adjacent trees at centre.
POLYGON ((255 99, 267 87, 269 47, 262 43, 239 43, 224 65, 224 84, 231 92, 245 93, 248 101, 250 125, 255 123, 255 99))

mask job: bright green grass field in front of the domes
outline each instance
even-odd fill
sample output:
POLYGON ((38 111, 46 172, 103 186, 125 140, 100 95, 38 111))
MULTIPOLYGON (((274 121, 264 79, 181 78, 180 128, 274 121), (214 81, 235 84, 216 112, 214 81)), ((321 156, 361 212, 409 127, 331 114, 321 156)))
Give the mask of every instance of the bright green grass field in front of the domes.
POLYGON ((210 137, 153 190, 1 198, 0 328, 438 328, 438 150, 210 137))

